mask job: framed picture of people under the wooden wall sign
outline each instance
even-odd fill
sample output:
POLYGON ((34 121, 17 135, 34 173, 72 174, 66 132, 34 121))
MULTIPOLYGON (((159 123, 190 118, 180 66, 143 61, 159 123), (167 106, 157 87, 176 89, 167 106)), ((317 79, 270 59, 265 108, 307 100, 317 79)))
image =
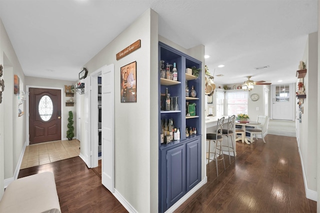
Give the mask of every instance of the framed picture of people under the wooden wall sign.
POLYGON ((120 68, 121 102, 136 102, 136 61, 120 68))

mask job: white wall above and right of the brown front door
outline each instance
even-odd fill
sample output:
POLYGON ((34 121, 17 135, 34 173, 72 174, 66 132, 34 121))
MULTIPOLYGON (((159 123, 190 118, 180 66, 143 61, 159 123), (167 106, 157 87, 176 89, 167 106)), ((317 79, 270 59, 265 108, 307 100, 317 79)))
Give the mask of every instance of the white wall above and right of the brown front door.
POLYGON ((68 117, 69 117, 69 111, 73 112, 73 127, 74 127, 74 137, 76 136, 76 94, 73 95, 73 106, 65 106, 66 100, 70 99, 70 97, 65 96, 65 90, 64 85, 72 85, 74 84, 74 81, 69 80, 59 80, 59 79, 50 79, 50 78, 42 78, 42 77, 31 77, 31 76, 25 76, 25 85, 28 85, 30 87, 36 86, 36 87, 52 87, 52 88, 62 88, 62 95, 63 95, 63 101, 62 101, 62 108, 61 111, 61 121, 62 121, 62 134, 61 139, 67 139, 66 138, 66 130, 67 130, 67 124, 68 124, 68 117))

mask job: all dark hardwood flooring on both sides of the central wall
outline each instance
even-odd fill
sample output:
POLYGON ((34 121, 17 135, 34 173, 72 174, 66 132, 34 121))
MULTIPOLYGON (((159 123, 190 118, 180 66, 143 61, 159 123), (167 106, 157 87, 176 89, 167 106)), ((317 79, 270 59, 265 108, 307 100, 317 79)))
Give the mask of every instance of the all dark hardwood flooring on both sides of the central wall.
MULTIPOLYGON (((295 137, 268 134, 247 145, 236 142, 236 160, 206 166, 207 183, 175 212, 316 212, 305 197, 295 137)), ((21 169, 19 177, 52 171, 62 212, 127 212, 101 185, 101 160, 93 169, 79 157, 21 169)))

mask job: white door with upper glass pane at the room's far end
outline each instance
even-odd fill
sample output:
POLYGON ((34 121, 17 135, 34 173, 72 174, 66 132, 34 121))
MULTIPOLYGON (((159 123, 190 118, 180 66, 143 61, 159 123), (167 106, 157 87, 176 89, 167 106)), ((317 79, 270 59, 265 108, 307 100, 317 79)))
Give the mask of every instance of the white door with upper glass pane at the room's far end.
POLYGON ((293 84, 272 85, 272 119, 294 120, 293 84))

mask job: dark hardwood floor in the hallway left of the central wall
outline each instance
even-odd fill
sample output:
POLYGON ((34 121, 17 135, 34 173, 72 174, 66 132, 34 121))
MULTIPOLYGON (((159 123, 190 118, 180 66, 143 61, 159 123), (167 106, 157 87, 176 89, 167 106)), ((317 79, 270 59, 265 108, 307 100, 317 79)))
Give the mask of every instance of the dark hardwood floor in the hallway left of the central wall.
POLYGON ((127 212, 80 157, 21 169, 18 178, 44 171, 54 173, 61 212, 127 212))

